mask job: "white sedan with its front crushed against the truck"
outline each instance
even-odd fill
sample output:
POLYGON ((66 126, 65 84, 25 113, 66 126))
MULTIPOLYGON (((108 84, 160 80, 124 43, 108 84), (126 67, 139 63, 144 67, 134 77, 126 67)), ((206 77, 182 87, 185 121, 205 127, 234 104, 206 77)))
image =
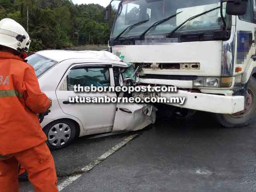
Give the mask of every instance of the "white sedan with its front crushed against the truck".
POLYGON ((51 112, 41 123, 50 149, 69 145, 85 135, 133 131, 154 123, 155 112, 142 104, 74 104, 69 97, 121 97, 116 92, 79 92, 74 85, 124 86, 135 70, 106 51, 44 50, 27 58, 35 68, 41 90, 52 99, 51 112), (126 72, 129 73, 126 73, 126 72))

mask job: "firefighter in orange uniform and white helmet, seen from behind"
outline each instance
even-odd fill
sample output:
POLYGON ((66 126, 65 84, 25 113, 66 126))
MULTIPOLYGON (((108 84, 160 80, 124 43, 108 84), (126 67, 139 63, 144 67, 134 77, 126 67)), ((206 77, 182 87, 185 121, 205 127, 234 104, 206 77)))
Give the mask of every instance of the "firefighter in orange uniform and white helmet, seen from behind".
POLYGON ((19 164, 35 192, 58 192, 54 159, 38 121, 51 101, 23 62, 30 39, 12 19, 0 21, 0 192, 18 192, 19 164))

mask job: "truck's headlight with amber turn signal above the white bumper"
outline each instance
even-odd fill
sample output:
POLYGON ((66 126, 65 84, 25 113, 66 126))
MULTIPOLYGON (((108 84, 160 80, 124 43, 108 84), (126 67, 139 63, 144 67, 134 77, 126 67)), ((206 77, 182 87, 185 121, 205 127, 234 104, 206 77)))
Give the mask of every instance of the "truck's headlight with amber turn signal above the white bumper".
POLYGON ((193 81, 193 87, 221 87, 228 88, 232 86, 232 77, 198 77, 193 81))

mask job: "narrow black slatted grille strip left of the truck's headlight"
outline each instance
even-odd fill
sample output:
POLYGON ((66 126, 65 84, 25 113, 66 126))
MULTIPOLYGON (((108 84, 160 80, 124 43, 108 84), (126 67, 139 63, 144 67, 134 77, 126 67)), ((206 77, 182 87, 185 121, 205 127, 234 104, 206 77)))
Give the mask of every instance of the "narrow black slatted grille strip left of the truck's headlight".
POLYGON ((196 80, 197 76, 145 74, 145 75, 141 75, 140 78, 142 78, 142 79, 159 79, 159 80, 192 81, 192 80, 196 80))

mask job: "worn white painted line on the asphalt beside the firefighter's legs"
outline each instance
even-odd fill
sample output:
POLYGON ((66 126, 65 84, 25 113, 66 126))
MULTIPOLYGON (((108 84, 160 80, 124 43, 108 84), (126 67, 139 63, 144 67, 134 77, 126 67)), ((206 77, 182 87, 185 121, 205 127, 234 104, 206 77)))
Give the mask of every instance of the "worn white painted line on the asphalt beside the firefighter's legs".
MULTIPOLYGON (((126 145, 128 142, 130 142, 131 140, 133 140, 135 137, 137 137, 138 134, 135 135, 131 135, 129 137, 127 137, 124 141, 120 142, 119 144, 115 145, 114 147, 112 147, 110 150, 108 150, 106 153, 102 154, 100 157, 98 157, 97 159, 95 159, 92 163, 86 165, 84 168, 82 168, 81 171, 83 171, 83 173, 92 170, 92 168, 94 168, 97 164, 100 164, 102 161, 104 161, 105 159, 107 159, 107 157, 111 156, 112 154, 114 154, 114 152, 118 151, 119 149, 121 149, 124 145, 126 145)), ((78 178, 80 178, 82 176, 82 174, 75 174, 72 176, 69 176, 68 178, 66 178, 64 181, 62 181, 59 185, 58 185, 58 189, 59 191, 63 190, 64 188, 66 188, 67 186, 71 185, 74 181, 76 181, 78 178)))

